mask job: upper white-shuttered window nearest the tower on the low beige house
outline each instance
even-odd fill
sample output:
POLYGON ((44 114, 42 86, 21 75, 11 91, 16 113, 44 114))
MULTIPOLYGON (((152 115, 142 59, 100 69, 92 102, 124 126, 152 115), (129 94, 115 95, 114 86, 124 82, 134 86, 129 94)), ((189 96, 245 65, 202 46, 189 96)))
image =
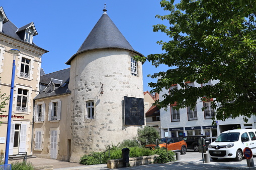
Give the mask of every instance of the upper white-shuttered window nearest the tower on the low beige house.
POLYGON ((49 103, 48 120, 60 120, 61 101, 53 101, 49 103))

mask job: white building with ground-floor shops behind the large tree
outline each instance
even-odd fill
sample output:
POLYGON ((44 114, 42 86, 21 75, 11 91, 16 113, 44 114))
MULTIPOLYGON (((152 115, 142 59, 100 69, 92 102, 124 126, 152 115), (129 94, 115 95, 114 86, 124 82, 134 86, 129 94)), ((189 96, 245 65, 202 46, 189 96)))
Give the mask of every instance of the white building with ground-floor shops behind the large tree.
MULTIPOLYGON (((193 87, 202 87, 207 84, 216 84, 217 80, 209 81, 206 84, 188 83, 193 87)), ((174 85, 170 88, 181 87, 174 85)), ((163 100, 162 95, 168 94, 168 89, 163 89, 159 94, 159 100, 163 100)), ((168 132, 170 137, 183 137, 186 135, 207 135, 212 141, 223 131, 237 128, 255 128, 256 117, 251 116, 248 122, 243 121, 243 117, 231 117, 225 121, 216 121, 217 125, 212 125, 212 115, 214 110, 211 108, 211 100, 203 102, 197 100, 196 108, 193 110, 190 107, 176 110, 175 105, 170 105, 167 111, 164 108, 160 109, 161 119, 161 137, 164 137, 164 132, 168 132), (202 107, 207 107, 202 111, 202 107)))

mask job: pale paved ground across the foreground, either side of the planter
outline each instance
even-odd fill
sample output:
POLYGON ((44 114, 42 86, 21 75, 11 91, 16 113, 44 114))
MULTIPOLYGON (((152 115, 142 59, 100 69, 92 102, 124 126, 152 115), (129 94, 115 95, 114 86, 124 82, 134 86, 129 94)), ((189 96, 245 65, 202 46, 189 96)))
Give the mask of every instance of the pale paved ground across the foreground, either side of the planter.
MULTIPOLYGON (((255 158, 254 158, 255 159, 255 158)), ((70 163, 70 162, 62 162, 55 159, 42 159, 42 158, 30 158, 28 159, 34 165, 42 165, 42 164, 52 164, 55 170, 93 170, 93 169, 109 169, 107 168, 107 164, 96 164, 96 165, 80 165, 78 163, 70 163)), ((256 159, 255 159, 256 165, 256 159)), ((202 154, 199 152, 188 151, 187 154, 181 155, 181 160, 163 164, 147 164, 133 167, 122 167, 118 169, 232 169, 232 170, 241 170, 241 169, 249 169, 247 167, 246 159, 243 159, 240 162, 234 161, 233 159, 218 159, 212 160, 210 159, 210 163, 203 163, 202 154)), ((252 167, 251 169, 256 169, 252 167)))

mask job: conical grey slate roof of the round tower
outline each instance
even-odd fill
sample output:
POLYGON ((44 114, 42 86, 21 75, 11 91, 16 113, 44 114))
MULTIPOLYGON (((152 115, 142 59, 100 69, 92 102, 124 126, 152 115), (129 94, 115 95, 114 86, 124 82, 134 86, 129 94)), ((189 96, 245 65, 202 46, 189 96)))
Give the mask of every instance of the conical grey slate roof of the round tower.
POLYGON ((143 56, 142 54, 133 50, 130 43, 125 39, 105 11, 86 40, 82 43, 79 50, 66 62, 66 64, 70 65, 71 60, 79 53, 105 48, 126 49, 143 56))

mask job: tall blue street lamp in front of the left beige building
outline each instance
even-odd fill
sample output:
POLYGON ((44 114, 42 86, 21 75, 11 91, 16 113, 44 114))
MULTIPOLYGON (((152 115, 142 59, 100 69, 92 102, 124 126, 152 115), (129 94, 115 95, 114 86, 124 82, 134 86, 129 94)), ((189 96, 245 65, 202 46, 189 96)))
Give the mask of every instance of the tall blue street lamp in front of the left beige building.
POLYGON ((15 78, 15 67, 16 67, 15 66, 15 58, 16 58, 16 55, 20 53, 20 50, 11 49, 10 52, 13 53, 13 71, 12 71, 10 102, 9 102, 9 111, 8 111, 7 134, 6 134, 5 164, 8 164, 8 157, 9 157, 9 143, 10 143, 12 109, 13 109, 13 94, 14 94, 14 78, 15 78))

